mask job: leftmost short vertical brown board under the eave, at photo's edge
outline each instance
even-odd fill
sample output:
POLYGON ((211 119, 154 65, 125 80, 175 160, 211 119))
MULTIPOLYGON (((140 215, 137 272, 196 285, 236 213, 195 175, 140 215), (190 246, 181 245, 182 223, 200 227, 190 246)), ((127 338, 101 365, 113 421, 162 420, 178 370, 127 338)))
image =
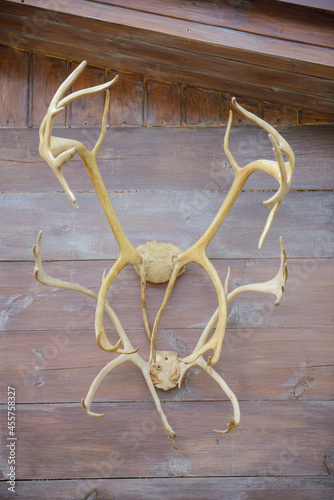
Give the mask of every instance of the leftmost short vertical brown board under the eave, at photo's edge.
POLYGON ((28 68, 27 52, 0 47, 0 127, 27 126, 28 68))

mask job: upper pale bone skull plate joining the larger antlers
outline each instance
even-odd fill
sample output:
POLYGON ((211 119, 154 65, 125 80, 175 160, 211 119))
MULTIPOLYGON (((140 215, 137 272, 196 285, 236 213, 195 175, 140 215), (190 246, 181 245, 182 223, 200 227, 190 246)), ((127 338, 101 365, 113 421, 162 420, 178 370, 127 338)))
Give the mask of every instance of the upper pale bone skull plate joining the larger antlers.
MULTIPOLYGON (((169 281, 177 257, 182 253, 182 250, 172 243, 158 243, 157 241, 149 241, 145 245, 139 245, 137 250, 143 255, 142 266, 145 271, 145 279, 151 283, 169 281)), ((136 271, 140 274, 138 269, 136 271)), ((185 271, 184 267, 180 269, 178 275, 183 271, 185 271)))

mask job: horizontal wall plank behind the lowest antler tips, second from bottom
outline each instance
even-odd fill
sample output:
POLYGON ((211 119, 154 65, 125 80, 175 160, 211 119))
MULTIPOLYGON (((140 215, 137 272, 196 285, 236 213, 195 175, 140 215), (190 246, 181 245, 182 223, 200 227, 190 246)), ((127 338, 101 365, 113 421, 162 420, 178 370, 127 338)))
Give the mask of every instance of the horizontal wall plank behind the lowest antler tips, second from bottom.
POLYGON ((80 404, 18 404, 18 479, 328 475, 333 402, 244 402, 225 436, 213 429, 229 421, 227 402, 166 402, 178 450, 153 403, 97 407, 104 418, 80 404))

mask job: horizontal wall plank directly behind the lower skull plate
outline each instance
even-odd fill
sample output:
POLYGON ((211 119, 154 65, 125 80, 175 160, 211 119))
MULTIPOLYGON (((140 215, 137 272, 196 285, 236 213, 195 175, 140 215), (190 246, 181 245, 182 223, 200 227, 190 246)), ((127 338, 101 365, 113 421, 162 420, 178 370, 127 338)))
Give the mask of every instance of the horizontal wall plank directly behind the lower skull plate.
MULTIPOLYGON (((49 331, 1 334, 1 380, 5 387, 18 388, 20 403, 79 402, 99 371, 116 356, 97 347, 93 327, 53 331, 51 321, 49 331)), ((159 330, 158 349, 186 356, 201 332, 159 330)), ((127 333, 133 346, 139 347, 140 356, 148 360, 145 333, 127 333)), ((214 369, 239 401, 333 400, 333 333, 333 328, 320 327, 228 329, 221 360, 214 369)), ((114 333, 109 335, 116 339, 114 333)), ((167 401, 227 400, 199 368, 191 369, 186 380, 181 389, 158 391, 159 397, 167 401)), ((5 404, 6 398, 1 394, 0 402, 5 404)), ((132 363, 115 369, 99 387, 94 406, 108 401, 151 401, 147 385, 132 363)))

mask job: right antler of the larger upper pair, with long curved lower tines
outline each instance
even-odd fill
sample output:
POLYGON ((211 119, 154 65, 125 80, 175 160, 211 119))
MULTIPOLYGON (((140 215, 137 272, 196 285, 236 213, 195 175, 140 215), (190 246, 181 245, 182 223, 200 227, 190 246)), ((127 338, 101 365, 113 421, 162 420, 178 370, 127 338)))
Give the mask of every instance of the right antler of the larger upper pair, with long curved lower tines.
POLYGON ((213 285, 215 287, 217 297, 218 297, 218 324, 217 328, 211 337, 210 340, 208 340, 204 345, 202 345, 200 348, 195 349, 194 352, 190 355, 187 356, 186 358, 183 358, 182 361, 184 363, 192 363, 194 362, 199 356, 203 355, 207 350, 213 349, 214 354, 211 359, 211 357, 208 358, 208 364, 215 364, 219 360, 221 349, 222 349, 222 344, 223 344, 223 339, 224 339, 224 334, 225 334, 225 329, 226 329, 226 320, 227 320, 227 297, 226 293, 224 291, 224 287, 220 281, 220 278, 218 276, 218 273, 216 269, 214 268, 213 264, 209 261, 206 255, 206 250, 207 247, 212 240, 212 238, 215 236, 217 233, 218 229, 220 228, 221 224, 225 220, 227 214, 231 210, 232 206, 234 205, 237 197, 239 196, 241 190, 243 189, 243 186, 245 185, 247 179, 249 176, 256 172, 256 171, 262 171, 262 172, 267 172, 268 174, 272 175, 280 184, 280 187, 277 191, 277 193, 270 198, 269 200, 264 202, 264 206, 268 209, 271 209, 271 212, 268 216, 266 225, 264 227, 263 233, 260 237, 259 241, 259 249, 262 247, 263 241, 268 234, 269 228, 271 226, 271 223, 273 221, 273 218, 275 216, 275 213, 277 212, 278 208, 280 207, 281 203, 283 202, 286 194, 288 193, 291 185, 291 177, 292 177, 292 172, 294 169, 294 164, 295 164, 295 158, 293 151, 289 144, 285 141, 285 139, 268 123, 266 123, 264 120, 261 118, 258 118, 256 115, 253 113, 250 113, 249 111, 245 110, 242 106, 240 106, 236 99, 232 99, 232 104, 234 108, 239 111, 241 114, 252 120, 254 123, 262 127, 264 130, 266 130, 269 133, 269 139, 273 145, 276 161, 271 161, 271 160, 256 160, 253 161, 249 164, 247 164, 245 167, 240 168, 235 161, 234 157, 232 156, 229 146, 228 146, 228 139, 229 139, 229 134, 232 126, 232 111, 230 111, 229 115, 229 121, 227 125, 227 130, 225 134, 225 139, 224 139, 224 150, 225 153, 228 157, 228 159, 231 162, 233 171, 234 171, 234 181, 233 184, 224 200, 222 203, 219 211, 217 212, 216 216, 214 217, 212 223, 208 227, 208 229, 205 231, 205 233, 201 236, 201 238, 188 250, 185 252, 181 253, 177 261, 175 263, 175 267, 172 273, 172 276, 170 278, 170 281, 168 283, 165 296, 162 302, 162 305, 157 313, 154 326, 153 326, 153 331, 152 331, 152 342, 151 342, 151 354, 150 354, 150 359, 151 361, 155 361, 155 339, 157 335, 157 330, 158 330, 158 325, 159 321, 161 318, 161 315, 163 311, 166 308, 169 296, 171 294, 171 291, 173 289, 173 286, 175 284, 176 278, 178 276, 179 270, 181 267, 186 266, 190 262, 195 262, 202 266, 206 272, 209 274, 211 281, 213 282, 213 285), (284 162, 283 160, 283 154, 286 154, 288 157, 288 161, 284 162))

